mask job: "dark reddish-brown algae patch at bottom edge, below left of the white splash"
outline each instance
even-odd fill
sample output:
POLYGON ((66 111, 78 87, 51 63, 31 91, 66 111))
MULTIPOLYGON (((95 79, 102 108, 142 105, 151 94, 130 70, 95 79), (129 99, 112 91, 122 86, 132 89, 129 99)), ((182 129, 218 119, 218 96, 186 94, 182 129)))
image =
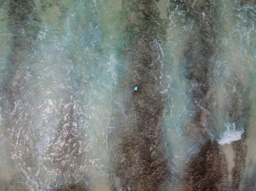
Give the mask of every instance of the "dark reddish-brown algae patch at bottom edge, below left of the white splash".
POLYGON ((180 190, 226 190, 228 174, 226 157, 219 144, 208 140, 189 161, 180 181, 180 190))

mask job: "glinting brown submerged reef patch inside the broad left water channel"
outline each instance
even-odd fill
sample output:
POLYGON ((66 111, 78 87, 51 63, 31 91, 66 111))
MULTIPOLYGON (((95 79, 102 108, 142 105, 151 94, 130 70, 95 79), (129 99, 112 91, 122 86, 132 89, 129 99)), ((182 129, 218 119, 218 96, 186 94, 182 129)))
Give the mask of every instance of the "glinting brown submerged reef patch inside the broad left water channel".
POLYGON ((49 149, 49 158, 55 164, 55 173, 58 174, 58 180, 62 185, 77 182, 77 179, 86 180, 81 174, 82 152, 81 128, 79 127, 79 116, 74 112, 76 101, 65 100, 67 105, 62 105, 59 121, 56 125, 57 136, 55 136, 52 146, 49 149), (80 151, 79 151, 80 150, 80 151))

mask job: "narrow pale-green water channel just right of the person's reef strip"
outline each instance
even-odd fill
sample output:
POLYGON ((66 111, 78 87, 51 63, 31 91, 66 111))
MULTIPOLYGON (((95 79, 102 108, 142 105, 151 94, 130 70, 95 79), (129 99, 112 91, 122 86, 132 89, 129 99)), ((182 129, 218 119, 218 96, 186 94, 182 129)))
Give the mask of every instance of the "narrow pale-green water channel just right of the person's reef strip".
POLYGON ((186 137, 185 127, 193 119, 192 89, 184 75, 181 61, 183 49, 189 34, 193 31, 194 20, 184 22, 186 14, 182 6, 169 2, 167 33, 158 38, 156 46, 160 55, 161 70, 158 90, 164 101, 163 131, 165 139, 165 159, 168 161, 169 179, 167 190, 177 189, 185 164, 197 149, 186 137))

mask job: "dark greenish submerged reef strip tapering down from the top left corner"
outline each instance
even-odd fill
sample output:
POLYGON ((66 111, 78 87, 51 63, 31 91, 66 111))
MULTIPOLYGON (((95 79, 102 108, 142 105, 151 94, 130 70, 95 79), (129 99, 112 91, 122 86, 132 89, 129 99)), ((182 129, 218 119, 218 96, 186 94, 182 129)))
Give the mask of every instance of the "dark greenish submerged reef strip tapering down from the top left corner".
MULTIPOLYGON (((13 34, 11 46, 13 54, 10 55, 10 69, 4 79, 3 91, 6 92, 8 98, 12 99, 21 91, 19 90, 19 82, 22 80, 19 75, 20 67, 24 66, 27 54, 32 52, 33 42, 39 32, 38 23, 40 21, 33 0, 10 0, 7 10, 9 12, 8 24, 13 34)), ((14 101, 16 100, 10 102, 14 101)))

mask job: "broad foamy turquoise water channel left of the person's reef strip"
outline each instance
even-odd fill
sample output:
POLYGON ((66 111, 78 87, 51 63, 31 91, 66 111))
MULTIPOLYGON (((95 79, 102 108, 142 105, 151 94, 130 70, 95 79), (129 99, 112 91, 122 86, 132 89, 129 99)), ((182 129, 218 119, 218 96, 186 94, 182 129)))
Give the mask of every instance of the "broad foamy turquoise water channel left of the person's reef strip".
MULTIPOLYGON (((36 64, 28 69, 38 78, 29 78, 35 80, 36 90, 26 94, 33 98, 38 93, 31 103, 37 106, 36 115, 31 115, 41 119, 40 123, 33 120, 38 132, 39 174, 28 174, 32 175, 30 186, 36 182, 41 189, 65 188, 87 180, 85 188, 108 190, 113 184, 107 141, 117 71, 122 72, 123 66, 116 59, 118 48, 112 44, 118 47, 122 42, 118 44, 115 28, 109 32, 106 25, 104 28, 104 14, 101 17, 99 12, 106 4, 101 4, 59 1, 38 13, 42 26, 33 60, 36 64), (52 18, 51 13, 58 14, 52 18), (111 32, 113 40, 108 36, 111 32)), ((37 9, 40 7, 37 2, 37 9)))

